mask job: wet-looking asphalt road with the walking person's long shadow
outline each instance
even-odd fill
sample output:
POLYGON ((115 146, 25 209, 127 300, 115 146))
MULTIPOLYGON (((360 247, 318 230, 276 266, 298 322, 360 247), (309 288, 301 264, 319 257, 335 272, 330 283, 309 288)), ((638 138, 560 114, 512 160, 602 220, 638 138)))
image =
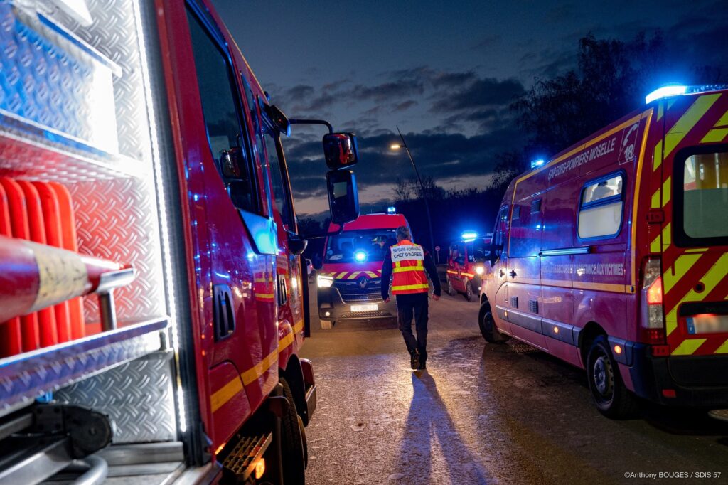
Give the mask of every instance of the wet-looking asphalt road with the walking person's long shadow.
POLYGON ((394 323, 323 331, 312 313, 308 484, 638 484, 654 479, 625 475, 661 472, 728 483, 728 422, 650 405, 606 419, 583 371, 524 344, 486 344, 478 304, 462 296, 430 300, 424 372, 410 370, 394 323))

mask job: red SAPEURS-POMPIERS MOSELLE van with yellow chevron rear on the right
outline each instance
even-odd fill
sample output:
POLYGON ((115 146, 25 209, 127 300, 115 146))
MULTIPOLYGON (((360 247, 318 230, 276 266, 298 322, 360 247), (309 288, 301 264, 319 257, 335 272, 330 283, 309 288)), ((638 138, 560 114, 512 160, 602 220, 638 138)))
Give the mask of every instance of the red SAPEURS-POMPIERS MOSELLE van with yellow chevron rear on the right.
POLYGON ((609 417, 728 405, 728 91, 681 93, 515 178, 496 219, 483 336, 585 368, 609 417))

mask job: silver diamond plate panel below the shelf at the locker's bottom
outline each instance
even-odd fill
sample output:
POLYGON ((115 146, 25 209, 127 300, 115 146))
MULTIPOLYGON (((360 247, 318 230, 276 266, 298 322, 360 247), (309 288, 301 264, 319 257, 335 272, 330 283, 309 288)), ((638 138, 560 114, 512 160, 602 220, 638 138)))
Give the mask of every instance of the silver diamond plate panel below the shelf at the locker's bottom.
POLYGON ((55 398, 108 414, 114 443, 173 441, 172 375, 172 361, 152 354, 61 389, 55 398))

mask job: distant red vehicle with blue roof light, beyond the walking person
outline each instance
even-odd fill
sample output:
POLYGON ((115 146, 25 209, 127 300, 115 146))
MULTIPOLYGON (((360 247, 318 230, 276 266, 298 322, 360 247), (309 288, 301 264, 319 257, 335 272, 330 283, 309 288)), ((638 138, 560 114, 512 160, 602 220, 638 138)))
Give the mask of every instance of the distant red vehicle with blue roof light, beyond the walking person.
POLYGON ((467 301, 480 294, 480 278, 485 271, 491 234, 478 237, 475 232, 464 232, 462 239, 453 242, 448 250, 446 281, 448 295, 462 293, 467 301))

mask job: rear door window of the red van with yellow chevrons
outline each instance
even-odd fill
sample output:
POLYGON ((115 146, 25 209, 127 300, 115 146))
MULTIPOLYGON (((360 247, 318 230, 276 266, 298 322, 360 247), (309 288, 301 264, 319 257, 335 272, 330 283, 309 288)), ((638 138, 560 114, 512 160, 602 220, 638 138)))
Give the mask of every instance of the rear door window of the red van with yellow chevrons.
POLYGON ((683 230, 692 239, 728 237, 728 153, 685 160, 683 230))

